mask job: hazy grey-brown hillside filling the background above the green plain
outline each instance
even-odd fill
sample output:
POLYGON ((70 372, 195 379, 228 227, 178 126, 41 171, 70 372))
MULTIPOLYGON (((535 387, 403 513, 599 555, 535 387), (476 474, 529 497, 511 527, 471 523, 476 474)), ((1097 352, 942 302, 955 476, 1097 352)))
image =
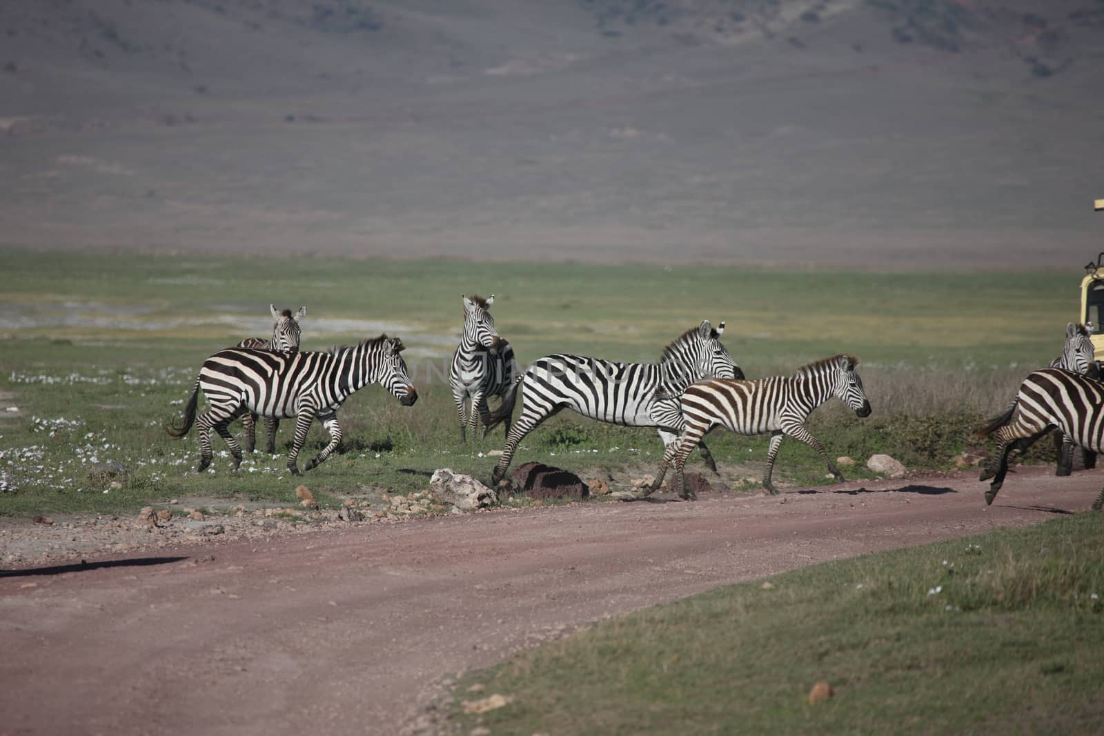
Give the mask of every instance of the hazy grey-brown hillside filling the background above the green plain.
POLYGON ((6 0, 0 245, 1076 268, 1104 1, 6 0))

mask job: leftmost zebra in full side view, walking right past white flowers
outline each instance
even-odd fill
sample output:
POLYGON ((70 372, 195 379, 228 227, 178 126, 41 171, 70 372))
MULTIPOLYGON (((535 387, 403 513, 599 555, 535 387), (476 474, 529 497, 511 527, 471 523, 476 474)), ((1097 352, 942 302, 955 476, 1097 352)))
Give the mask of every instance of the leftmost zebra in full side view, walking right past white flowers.
POLYGON ((242 448, 227 426, 246 412, 262 416, 296 417, 295 440, 287 469, 298 476, 296 460, 315 417, 330 433, 330 442, 307 463, 306 470, 322 462, 341 441, 338 409, 355 391, 379 383, 403 406, 417 401, 417 392, 400 354, 403 342, 385 334, 358 345, 340 345, 328 353, 274 352, 252 348, 230 348, 203 362, 195 386, 184 408, 182 425, 166 426, 170 437, 183 437, 199 425, 200 463, 197 472, 211 465, 211 428, 226 440, 234 456, 234 470, 242 463, 242 448), (197 417, 200 390, 211 409, 197 417))

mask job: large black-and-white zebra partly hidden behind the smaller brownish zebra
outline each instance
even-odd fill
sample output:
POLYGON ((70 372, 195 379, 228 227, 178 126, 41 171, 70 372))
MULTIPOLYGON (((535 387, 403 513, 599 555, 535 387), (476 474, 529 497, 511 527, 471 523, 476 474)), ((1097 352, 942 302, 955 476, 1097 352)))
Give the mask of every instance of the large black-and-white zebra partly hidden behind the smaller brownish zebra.
MULTIPOLYGON (((714 330, 705 320, 667 345, 658 364, 618 363, 562 353, 534 361, 513 382, 502 406, 486 423, 490 431, 510 417, 518 390, 524 384, 521 417, 507 434, 502 457, 491 476, 492 484, 506 476, 518 442, 564 408, 598 422, 656 427, 667 447, 682 431, 678 397, 687 386, 707 376, 742 378, 744 375, 721 344, 723 332, 724 322, 714 330)), ((716 465, 704 445, 701 455, 715 471, 716 465)))

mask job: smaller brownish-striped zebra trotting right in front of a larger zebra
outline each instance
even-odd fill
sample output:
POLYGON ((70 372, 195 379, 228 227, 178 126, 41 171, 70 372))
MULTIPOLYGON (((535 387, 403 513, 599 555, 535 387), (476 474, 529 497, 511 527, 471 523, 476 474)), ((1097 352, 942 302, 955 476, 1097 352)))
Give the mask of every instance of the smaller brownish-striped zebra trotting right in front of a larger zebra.
POLYGON ((836 480, 842 481, 839 468, 828 458, 824 446, 813 433, 805 428, 805 420, 813 409, 832 396, 839 397, 860 417, 870 416, 870 402, 862 390, 862 378, 854 372, 858 363, 858 359, 840 354, 803 365, 792 376, 751 381, 712 378, 688 387, 680 402, 686 429, 678 442, 672 442, 669 451, 664 454, 658 477, 645 495, 659 488, 667 474, 667 467, 673 460, 679 495, 683 499, 696 498, 692 491, 687 494, 682 467, 694 445, 718 425, 741 435, 771 433, 763 486, 772 494, 778 493, 771 482, 771 473, 785 435, 802 440, 819 452, 836 480))

